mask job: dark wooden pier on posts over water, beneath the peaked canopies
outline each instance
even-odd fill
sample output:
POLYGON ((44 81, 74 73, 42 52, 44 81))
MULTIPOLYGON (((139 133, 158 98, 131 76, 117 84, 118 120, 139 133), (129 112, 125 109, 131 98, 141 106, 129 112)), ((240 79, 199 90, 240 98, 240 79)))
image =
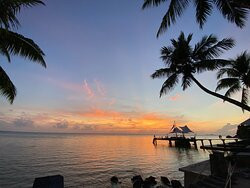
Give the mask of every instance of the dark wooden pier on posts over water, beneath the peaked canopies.
MULTIPOLYGON (((153 144, 157 144, 157 141, 159 140, 166 140, 169 142, 169 146, 172 147, 173 143, 175 147, 191 147, 191 144, 193 144, 195 149, 198 149, 197 143, 201 143, 201 149, 211 149, 211 148, 228 148, 229 146, 233 146, 230 143, 237 143, 238 138, 195 138, 195 137, 167 137, 167 136, 154 136, 153 138, 153 144), (217 143, 214 143, 214 141, 217 141, 217 143), (218 144, 218 141, 221 141, 221 144, 218 144), (226 143, 226 141, 231 141, 230 143, 226 143), (209 145, 205 145, 206 143, 209 143, 209 145)), ((237 146, 234 145, 234 146, 237 146)))

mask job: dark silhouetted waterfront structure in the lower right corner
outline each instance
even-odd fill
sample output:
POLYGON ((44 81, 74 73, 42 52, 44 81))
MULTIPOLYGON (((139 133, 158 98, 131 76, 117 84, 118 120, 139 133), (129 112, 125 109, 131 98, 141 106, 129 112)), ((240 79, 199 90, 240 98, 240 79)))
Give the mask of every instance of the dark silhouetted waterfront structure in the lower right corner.
MULTIPOLYGON (((238 132, 249 130, 250 119, 239 125, 238 132)), ((201 146, 211 151, 209 160, 179 170, 184 172, 185 188, 249 188, 250 138, 231 143, 201 146)))

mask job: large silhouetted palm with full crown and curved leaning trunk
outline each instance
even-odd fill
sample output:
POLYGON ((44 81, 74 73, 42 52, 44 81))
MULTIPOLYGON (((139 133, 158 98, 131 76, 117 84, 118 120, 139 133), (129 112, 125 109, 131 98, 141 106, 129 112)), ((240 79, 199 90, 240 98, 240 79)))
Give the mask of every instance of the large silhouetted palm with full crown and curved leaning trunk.
POLYGON ((194 77, 195 73, 212 71, 227 64, 227 60, 217 59, 216 57, 224 50, 231 49, 234 46, 234 40, 225 38, 218 41, 214 35, 209 35, 204 36, 194 48, 190 45, 191 40, 192 34, 189 34, 186 38, 184 33, 181 32, 178 40, 171 40, 171 46, 164 46, 161 49, 161 59, 166 68, 156 70, 151 75, 153 79, 166 78, 160 90, 160 97, 174 89, 181 79, 183 90, 190 87, 192 82, 194 82, 206 93, 250 111, 250 107, 246 104, 210 91, 194 77))

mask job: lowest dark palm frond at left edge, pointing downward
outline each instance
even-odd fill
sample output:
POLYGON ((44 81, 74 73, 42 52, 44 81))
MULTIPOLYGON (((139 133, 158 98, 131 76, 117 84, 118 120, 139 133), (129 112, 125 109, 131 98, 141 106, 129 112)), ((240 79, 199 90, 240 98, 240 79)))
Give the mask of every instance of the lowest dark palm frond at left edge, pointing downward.
POLYGON ((16 96, 16 88, 10 78, 0 66, 0 95, 6 97, 12 104, 16 96))

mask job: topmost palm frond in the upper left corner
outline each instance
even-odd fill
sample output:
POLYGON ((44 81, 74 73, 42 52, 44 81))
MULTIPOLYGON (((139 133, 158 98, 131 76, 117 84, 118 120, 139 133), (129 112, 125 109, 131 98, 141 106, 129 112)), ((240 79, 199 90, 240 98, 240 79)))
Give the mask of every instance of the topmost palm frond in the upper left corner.
POLYGON ((41 0, 1 0, 0 1, 0 27, 9 29, 20 25, 16 14, 24 7, 45 5, 41 0))

